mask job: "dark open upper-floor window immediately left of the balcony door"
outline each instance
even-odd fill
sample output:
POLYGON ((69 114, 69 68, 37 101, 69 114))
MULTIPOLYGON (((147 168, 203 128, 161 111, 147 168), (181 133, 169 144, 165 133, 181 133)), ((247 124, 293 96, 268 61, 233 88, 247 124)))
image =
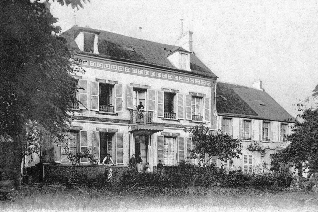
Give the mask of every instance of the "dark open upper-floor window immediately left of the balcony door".
POLYGON ((114 113, 114 85, 99 83, 99 111, 114 113))

